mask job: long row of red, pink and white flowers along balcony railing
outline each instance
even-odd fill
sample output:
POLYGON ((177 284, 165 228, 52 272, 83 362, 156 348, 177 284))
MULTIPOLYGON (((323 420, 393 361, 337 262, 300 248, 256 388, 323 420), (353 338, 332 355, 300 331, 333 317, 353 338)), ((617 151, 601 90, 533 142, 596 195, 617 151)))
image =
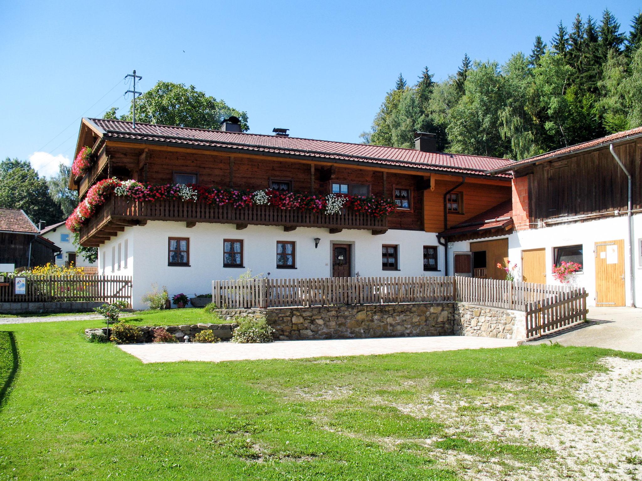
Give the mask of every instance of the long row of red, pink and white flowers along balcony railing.
POLYGON ((308 212, 324 212, 327 215, 338 214, 343 208, 355 212, 385 217, 397 207, 391 199, 374 197, 348 196, 345 194, 327 194, 315 196, 303 192, 279 192, 272 189, 232 190, 220 187, 205 187, 196 184, 143 184, 135 180, 117 180, 110 178, 92 185, 85 199, 69 215, 65 225, 71 232, 78 232, 87 223, 96 209, 103 205, 111 195, 121 196, 136 201, 181 200, 186 202, 204 202, 214 205, 233 205, 236 208, 254 205, 273 205, 282 209, 300 209, 308 212))

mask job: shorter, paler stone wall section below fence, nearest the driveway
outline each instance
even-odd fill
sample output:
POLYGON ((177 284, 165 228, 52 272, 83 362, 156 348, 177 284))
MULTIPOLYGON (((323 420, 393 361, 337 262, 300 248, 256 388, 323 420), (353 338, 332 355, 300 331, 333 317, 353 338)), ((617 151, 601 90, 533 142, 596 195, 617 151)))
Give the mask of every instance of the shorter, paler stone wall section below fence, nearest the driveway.
POLYGON ((526 314, 519 310, 455 304, 455 335, 526 339, 526 314))

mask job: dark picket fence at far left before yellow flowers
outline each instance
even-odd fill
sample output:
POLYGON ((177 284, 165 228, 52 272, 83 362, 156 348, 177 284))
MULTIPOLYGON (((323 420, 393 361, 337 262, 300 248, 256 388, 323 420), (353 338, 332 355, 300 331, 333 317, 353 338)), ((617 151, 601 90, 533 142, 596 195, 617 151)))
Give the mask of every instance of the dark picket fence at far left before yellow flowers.
MULTIPOLYGON (((13 274, 0 284, 0 302, 126 301, 132 305, 130 276, 37 276, 26 277, 24 294, 16 294, 13 274)), ((19 274, 17 277, 22 277, 19 274)))

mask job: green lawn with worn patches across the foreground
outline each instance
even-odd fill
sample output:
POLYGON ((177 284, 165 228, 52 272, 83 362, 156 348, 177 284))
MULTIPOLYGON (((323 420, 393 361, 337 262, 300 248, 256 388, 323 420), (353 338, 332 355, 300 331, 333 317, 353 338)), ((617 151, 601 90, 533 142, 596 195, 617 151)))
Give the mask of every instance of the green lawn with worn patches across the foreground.
MULTIPOLYGON (((193 323, 192 311, 171 314, 193 323)), ((166 315, 139 318, 183 323, 166 315)), ((15 336, 20 363, 0 405, 0 480, 460 479, 438 462, 438 451, 537 466, 557 453, 467 432, 447 435, 446 418, 415 416, 402 406, 430 406, 434 394, 474 404, 518 385, 512 403, 481 404, 474 415, 516 410, 519 400, 553 410, 574 406, 578 418, 593 408, 575 389, 605 369, 601 357, 642 357, 524 346, 144 365, 112 344, 86 342, 83 329, 92 326, 96 321, 0 326, 0 382, 13 363, 6 332, 15 336)))

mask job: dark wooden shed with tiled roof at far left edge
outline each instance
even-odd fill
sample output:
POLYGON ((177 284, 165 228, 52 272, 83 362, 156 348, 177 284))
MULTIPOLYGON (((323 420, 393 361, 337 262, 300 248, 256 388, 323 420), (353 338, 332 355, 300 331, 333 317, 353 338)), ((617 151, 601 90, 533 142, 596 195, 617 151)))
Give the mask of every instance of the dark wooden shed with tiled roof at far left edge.
POLYGON ((44 266, 60 248, 45 239, 24 210, 0 209, 0 272, 44 266))

